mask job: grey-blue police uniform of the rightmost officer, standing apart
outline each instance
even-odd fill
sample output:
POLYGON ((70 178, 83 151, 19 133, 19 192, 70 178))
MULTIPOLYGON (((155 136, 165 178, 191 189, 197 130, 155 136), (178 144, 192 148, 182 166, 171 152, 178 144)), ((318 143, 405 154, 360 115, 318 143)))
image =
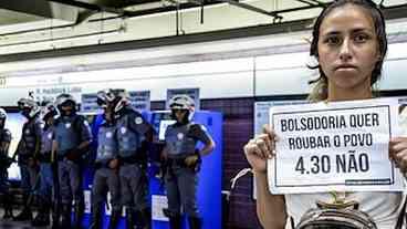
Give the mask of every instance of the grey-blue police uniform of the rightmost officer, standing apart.
MULTIPOLYGON (((176 123, 166 129, 165 142, 168 169, 165 176, 169 218, 179 218, 181 207, 191 219, 199 219, 196 192, 198 176, 196 167, 187 167, 185 159, 196 154, 197 142, 210 144, 211 138, 199 124, 176 123)), ((191 222, 190 222, 191 223, 191 222)), ((176 227, 176 226, 174 226, 176 227)))

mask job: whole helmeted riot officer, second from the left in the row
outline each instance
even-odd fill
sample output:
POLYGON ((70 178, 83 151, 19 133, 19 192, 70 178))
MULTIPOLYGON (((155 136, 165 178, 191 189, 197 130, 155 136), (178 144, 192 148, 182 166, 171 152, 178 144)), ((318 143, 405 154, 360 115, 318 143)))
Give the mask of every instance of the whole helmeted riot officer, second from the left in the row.
POLYGON ((22 127, 22 137, 13 157, 19 156, 18 163, 21 173, 21 188, 23 190, 23 210, 14 218, 15 221, 32 220, 31 201, 29 195, 33 195, 38 179, 36 157, 41 147, 41 121, 39 119, 40 106, 31 97, 21 98, 18 102, 22 115, 27 118, 22 127))

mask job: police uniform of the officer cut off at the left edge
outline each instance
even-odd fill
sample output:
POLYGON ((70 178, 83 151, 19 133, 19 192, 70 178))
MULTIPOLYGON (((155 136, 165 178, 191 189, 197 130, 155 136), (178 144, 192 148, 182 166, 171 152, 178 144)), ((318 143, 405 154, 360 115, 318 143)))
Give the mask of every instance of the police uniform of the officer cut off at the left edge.
MULTIPOLYGON (((7 128, 0 128, 0 147, 3 144, 10 144, 11 133, 7 128)), ((11 209, 11 197, 9 195, 9 175, 7 169, 11 163, 8 150, 6 148, 0 148, 0 192, 2 194, 2 202, 4 206, 4 218, 12 217, 11 209)))

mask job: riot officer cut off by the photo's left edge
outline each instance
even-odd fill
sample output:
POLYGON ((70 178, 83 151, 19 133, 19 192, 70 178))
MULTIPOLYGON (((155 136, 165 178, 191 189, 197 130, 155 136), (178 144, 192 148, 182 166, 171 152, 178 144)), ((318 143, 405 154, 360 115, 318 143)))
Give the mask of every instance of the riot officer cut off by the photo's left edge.
POLYGON ((2 194, 2 204, 4 207, 3 219, 12 218, 12 208, 9 194, 8 185, 8 171, 12 159, 9 157, 9 146, 11 142, 11 133, 9 129, 4 128, 7 119, 7 113, 3 108, 0 108, 0 192, 2 194))

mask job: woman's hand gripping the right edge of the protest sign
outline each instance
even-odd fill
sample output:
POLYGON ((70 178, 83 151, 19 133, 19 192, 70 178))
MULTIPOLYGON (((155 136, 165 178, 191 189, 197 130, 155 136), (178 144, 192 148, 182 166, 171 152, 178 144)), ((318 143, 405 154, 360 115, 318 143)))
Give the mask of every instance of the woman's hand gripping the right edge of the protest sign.
POLYGON ((392 138, 388 152, 390 159, 395 162, 401 173, 407 173, 407 137, 392 138))

